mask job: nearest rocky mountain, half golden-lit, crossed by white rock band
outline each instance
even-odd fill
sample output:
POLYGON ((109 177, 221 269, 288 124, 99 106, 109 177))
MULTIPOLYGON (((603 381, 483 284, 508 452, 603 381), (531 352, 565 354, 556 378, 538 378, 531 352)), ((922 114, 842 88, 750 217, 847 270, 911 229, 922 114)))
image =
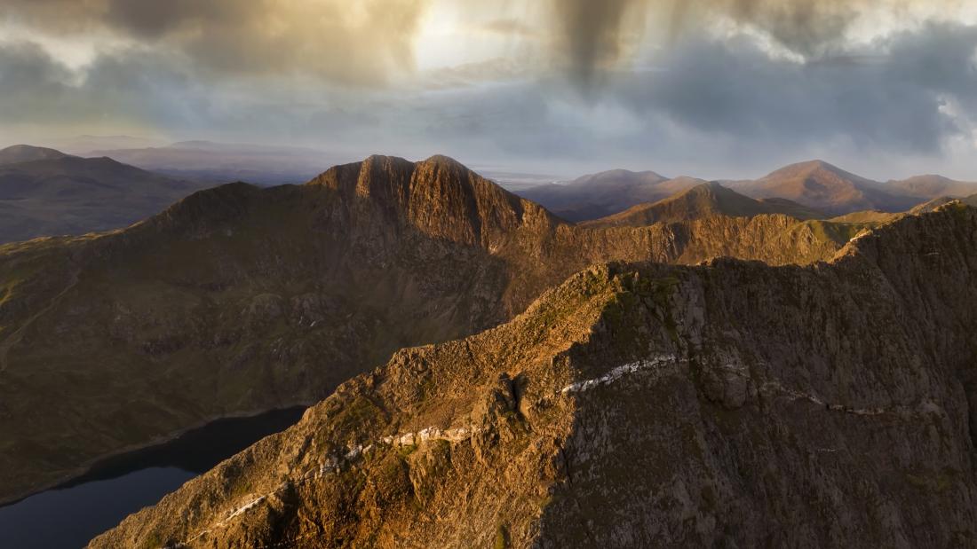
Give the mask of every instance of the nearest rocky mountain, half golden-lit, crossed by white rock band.
POLYGON ((404 349, 89 547, 962 547, 977 210, 612 264, 404 349))

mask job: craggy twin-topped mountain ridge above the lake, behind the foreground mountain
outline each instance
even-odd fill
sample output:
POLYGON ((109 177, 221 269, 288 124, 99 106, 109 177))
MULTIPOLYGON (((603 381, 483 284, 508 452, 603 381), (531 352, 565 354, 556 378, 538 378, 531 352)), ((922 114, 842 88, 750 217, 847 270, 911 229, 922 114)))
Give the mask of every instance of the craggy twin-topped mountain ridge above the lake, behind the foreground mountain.
POLYGON ((809 263, 867 226, 713 215, 727 211, 703 200, 720 194, 693 201, 709 216, 586 228, 444 157, 371 157, 0 247, 0 501, 216 417, 318 402, 397 349, 511 319, 593 263, 809 263))

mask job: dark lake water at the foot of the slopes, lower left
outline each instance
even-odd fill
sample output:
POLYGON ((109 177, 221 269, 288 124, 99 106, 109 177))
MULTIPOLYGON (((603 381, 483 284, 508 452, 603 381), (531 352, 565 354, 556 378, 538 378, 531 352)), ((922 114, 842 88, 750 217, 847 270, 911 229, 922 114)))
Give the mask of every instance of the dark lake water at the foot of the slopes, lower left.
POLYGON ((51 490, 0 507, 0 547, 76 549, 254 442, 304 408, 219 419, 178 439, 113 457, 51 490))

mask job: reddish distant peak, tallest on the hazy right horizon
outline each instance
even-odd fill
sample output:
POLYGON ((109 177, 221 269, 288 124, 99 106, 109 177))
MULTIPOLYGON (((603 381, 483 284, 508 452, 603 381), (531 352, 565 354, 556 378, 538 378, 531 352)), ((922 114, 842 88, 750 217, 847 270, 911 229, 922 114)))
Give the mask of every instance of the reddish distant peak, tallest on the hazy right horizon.
POLYGON ((836 216, 863 210, 904 212, 919 203, 919 197, 902 188, 850 174, 820 160, 791 164, 756 180, 727 184, 747 196, 786 198, 836 216))

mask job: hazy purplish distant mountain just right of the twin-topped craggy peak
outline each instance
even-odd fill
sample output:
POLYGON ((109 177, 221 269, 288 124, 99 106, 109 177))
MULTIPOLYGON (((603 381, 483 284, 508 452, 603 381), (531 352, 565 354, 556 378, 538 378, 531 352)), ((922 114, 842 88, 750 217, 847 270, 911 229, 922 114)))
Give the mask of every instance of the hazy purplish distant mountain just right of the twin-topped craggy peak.
POLYGON ((610 216, 636 204, 656 202, 689 189, 701 179, 669 179, 655 172, 613 170, 582 176, 569 183, 548 183, 518 191, 519 195, 570 221, 610 216))

